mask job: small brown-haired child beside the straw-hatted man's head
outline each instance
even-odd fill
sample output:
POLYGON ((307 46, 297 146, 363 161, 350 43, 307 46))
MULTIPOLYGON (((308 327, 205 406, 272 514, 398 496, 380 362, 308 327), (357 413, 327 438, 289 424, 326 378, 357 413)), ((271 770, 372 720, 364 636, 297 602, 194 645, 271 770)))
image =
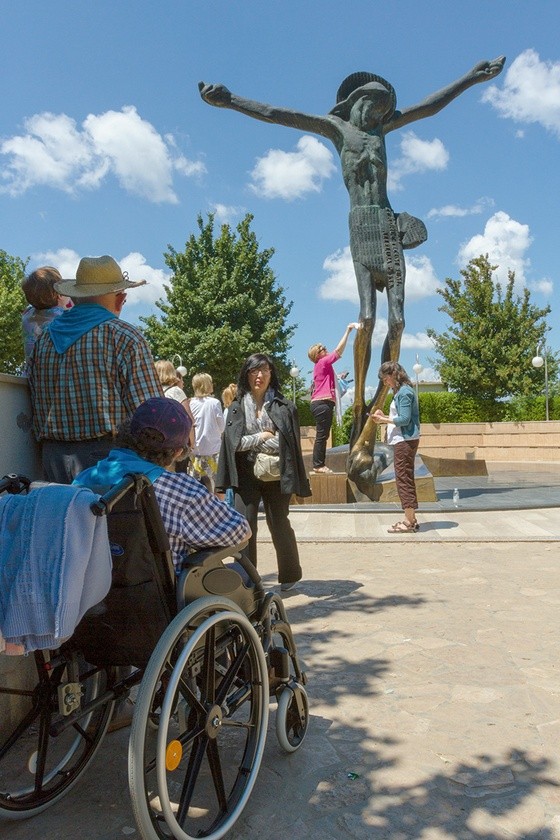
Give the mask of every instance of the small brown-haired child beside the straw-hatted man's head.
POLYGON ((29 304, 21 319, 26 366, 29 364, 35 342, 47 324, 62 315, 65 309, 72 307, 70 298, 59 295, 54 288, 54 284, 60 280, 60 271, 50 265, 37 268, 22 280, 21 288, 29 304))

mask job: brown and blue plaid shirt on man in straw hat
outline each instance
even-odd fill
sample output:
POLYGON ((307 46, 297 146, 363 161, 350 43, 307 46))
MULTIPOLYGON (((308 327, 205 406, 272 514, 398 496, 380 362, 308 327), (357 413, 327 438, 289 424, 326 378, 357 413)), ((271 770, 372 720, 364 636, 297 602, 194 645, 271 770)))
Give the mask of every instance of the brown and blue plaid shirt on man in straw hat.
POLYGON ((131 324, 114 318, 57 353, 44 332, 29 371, 37 440, 93 440, 115 434, 150 397, 163 391, 148 345, 131 324))

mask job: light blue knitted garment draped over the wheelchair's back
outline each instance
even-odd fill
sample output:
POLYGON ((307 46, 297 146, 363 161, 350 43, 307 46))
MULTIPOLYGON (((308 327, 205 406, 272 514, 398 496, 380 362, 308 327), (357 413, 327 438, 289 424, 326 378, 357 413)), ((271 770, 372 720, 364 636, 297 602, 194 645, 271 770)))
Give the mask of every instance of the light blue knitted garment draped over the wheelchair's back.
POLYGON ((0 497, 0 635, 8 646, 59 647, 109 591, 107 517, 90 507, 97 498, 63 484, 0 497))

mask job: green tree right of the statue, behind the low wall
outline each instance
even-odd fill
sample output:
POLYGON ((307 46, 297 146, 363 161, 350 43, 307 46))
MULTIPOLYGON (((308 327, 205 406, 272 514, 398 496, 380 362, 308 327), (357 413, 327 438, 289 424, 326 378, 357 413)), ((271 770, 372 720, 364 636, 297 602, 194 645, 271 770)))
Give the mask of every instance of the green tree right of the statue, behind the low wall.
MULTIPOLYGON (((538 345, 549 330, 550 307, 539 309, 530 292, 514 292, 515 273, 508 272, 505 289, 495 283, 488 255, 472 259, 460 274, 438 289, 444 300, 440 312, 451 325, 438 333, 429 328, 438 358, 430 360, 443 382, 464 396, 497 400, 542 390, 544 371, 531 366, 538 345)), ((549 378, 555 380, 558 360, 549 359, 549 378)))

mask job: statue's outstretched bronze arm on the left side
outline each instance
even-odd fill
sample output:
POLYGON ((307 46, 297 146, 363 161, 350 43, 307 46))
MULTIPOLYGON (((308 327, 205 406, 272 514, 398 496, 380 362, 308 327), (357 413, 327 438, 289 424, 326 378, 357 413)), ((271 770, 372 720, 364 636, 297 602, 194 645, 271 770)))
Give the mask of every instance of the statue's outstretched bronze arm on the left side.
POLYGON ((225 85, 209 85, 205 82, 199 82, 198 89, 201 97, 209 105, 215 105, 218 108, 231 108, 233 111, 239 111, 241 114, 246 114, 248 117, 254 117, 256 120, 262 120, 263 122, 286 125, 288 128, 299 128, 301 131, 322 134, 331 140, 334 137, 334 124, 326 117, 302 114, 299 111, 277 108, 273 105, 255 102, 252 99, 242 99, 228 90, 225 85))

